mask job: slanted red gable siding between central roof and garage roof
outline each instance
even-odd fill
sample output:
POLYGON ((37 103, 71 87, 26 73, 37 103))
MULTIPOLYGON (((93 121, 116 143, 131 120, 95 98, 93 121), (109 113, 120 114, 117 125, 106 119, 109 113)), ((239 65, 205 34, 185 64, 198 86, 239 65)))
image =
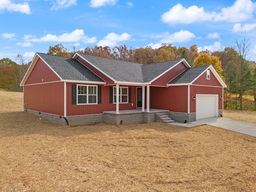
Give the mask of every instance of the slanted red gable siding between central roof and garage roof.
POLYGON ((168 82, 174 79, 176 76, 181 74, 184 70, 187 69, 187 66, 181 62, 176 65, 174 68, 160 76, 158 79, 154 80, 151 85, 152 86, 166 86, 168 82))

